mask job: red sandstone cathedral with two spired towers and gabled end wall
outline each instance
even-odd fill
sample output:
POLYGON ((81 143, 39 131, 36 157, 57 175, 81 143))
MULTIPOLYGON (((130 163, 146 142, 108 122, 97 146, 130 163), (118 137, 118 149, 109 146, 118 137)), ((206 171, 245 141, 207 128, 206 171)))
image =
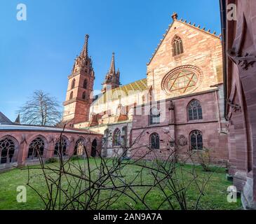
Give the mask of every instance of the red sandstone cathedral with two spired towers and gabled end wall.
POLYGON ((121 85, 113 53, 98 95, 86 35, 68 76, 62 124, 104 134, 107 157, 164 159, 176 147, 182 158, 207 148, 214 162, 226 163, 221 38, 177 13, 172 20, 147 63, 147 76, 121 85))

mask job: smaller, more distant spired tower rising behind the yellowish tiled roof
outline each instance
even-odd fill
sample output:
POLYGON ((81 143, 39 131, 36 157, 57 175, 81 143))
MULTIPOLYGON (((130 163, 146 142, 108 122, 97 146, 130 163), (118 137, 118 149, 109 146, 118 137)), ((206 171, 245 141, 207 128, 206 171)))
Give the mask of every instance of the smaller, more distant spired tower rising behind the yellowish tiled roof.
POLYGON ((109 71, 106 75, 104 83, 102 83, 102 92, 105 93, 107 90, 112 90, 120 85, 120 71, 116 71, 115 62, 114 62, 114 52, 112 53, 112 60, 110 64, 109 71))

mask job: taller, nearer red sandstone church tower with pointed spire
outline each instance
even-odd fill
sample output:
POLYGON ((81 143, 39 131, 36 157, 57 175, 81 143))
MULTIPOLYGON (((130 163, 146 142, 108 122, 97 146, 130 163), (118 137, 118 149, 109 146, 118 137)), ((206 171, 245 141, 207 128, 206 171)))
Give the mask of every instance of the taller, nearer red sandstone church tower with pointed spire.
POLYGON ((90 104, 93 102, 93 83, 95 79, 92 59, 88 56, 88 34, 83 49, 76 57, 72 74, 68 76, 67 96, 62 123, 72 127, 76 123, 89 120, 90 104))

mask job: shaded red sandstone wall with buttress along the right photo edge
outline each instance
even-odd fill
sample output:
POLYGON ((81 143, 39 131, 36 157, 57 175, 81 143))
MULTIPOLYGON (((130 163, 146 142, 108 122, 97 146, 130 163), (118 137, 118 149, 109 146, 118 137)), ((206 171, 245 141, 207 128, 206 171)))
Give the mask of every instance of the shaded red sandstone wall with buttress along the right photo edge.
POLYGON ((229 173, 245 208, 256 209, 256 2, 220 1, 224 36, 229 173), (233 10, 233 17, 231 16, 233 10))

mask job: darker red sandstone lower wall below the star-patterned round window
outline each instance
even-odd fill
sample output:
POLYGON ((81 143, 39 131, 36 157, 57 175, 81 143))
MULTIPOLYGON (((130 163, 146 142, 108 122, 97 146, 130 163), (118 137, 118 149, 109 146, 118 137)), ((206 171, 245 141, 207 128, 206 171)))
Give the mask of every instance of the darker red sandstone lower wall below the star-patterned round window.
POLYGON ((178 157, 186 160, 188 152, 192 151, 191 133, 194 130, 199 130, 203 134, 203 146, 210 150, 212 162, 219 163, 224 167, 227 166, 227 133, 222 130, 224 124, 219 111, 219 97, 219 90, 209 90, 204 93, 166 99, 152 105, 142 105, 142 114, 144 114, 142 116, 136 115, 136 110, 140 106, 135 108, 132 141, 136 142, 133 147, 139 149, 132 151, 132 158, 167 159, 170 153, 176 150, 178 157), (195 99, 201 103, 203 119, 189 121, 187 106, 195 99), (161 109, 161 106, 166 106, 166 114, 163 116, 163 120, 156 125, 149 124, 149 113, 145 113, 147 111, 145 108, 151 108, 152 106, 158 106, 159 109, 161 109), (150 136, 153 133, 159 134, 160 147, 151 151, 150 136), (142 135, 140 141, 136 141, 140 134, 142 135), (171 146, 171 141, 175 143, 173 146, 171 146), (144 155, 146 156, 144 157, 144 155))

